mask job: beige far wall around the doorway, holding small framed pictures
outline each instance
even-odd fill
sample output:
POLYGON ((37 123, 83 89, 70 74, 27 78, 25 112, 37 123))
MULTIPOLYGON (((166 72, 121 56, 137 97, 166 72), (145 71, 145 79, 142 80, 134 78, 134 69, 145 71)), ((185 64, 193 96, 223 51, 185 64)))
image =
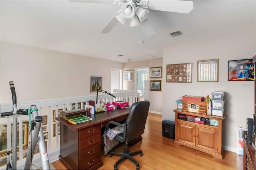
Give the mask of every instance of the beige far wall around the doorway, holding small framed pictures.
MULTIPOLYGON (((136 68, 145 67, 162 67, 163 58, 156 58, 138 62, 129 62, 123 64, 123 70, 134 70, 136 68)), ((162 75, 163 76, 163 75, 162 75)), ((163 77, 162 77, 163 79, 163 77)), ((150 79, 150 80, 162 80, 162 79, 150 79)), ((134 90, 134 81, 123 81, 124 90, 134 90)), ((149 110, 153 113, 162 113, 162 91, 149 91, 148 99, 150 101, 149 110)))

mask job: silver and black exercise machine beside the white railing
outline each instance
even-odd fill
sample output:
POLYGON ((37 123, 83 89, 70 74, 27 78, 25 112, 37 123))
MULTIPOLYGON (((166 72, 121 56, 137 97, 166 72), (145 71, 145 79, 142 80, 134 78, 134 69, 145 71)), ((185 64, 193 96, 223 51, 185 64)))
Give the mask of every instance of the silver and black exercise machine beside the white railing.
MULTIPOLYGON (((26 157, 26 162, 24 165, 25 170, 32 169, 32 160, 34 156, 34 150, 36 148, 36 143, 38 143, 38 148, 41 156, 42 169, 49 170, 50 164, 48 160, 48 154, 44 141, 44 134, 42 130, 42 116, 38 115, 38 109, 36 105, 32 105, 29 109, 19 109, 17 110, 17 99, 16 92, 13 81, 9 82, 10 89, 12 92, 12 111, 0 113, 0 117, 12 117, 12 166, 9 160, 10 151, 7 152, 8 155, 8 164, 6 169, 17 168, 17 119, 20 115, 28 115, 29 117, 29 135, 31 135, 31 140, 28 145, 28 153, 26 157), (32 115, 32 120, 31 120, 32 115)), ((25 129, 26 130, 26 129, 25 129)))

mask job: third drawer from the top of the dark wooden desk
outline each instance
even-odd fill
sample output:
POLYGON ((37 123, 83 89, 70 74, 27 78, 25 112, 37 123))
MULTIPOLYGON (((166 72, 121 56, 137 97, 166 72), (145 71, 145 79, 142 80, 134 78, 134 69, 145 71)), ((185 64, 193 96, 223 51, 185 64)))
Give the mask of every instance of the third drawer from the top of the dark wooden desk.
POLYGON ((101 144, 95 144, 79 153, 79 162, 82 162, 96 154, 100 153, 101 144))

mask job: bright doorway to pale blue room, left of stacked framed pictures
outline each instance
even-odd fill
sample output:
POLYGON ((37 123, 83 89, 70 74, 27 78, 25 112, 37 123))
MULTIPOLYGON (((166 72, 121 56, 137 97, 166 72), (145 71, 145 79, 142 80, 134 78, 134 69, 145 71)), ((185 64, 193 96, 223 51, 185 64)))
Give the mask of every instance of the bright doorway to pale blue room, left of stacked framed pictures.
POLYGON ((149 69, 137 68, 135 69, 135 90, 139 93, 139 101, 148 100, 149 93, 149 69))

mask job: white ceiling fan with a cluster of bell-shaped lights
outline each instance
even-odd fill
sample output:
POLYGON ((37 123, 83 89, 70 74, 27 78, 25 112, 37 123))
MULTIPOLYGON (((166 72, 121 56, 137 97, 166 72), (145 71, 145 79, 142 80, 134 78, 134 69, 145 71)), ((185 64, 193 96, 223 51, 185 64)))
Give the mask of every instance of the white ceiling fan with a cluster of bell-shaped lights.
POLYGON ((126 19, 130 19, 130 26, 142 28, 146 36, 152 36, 156 32, 151 26, 147 17, 149 10, 158 10, 166 12, 178 12, 188 14, 193 7, 192 1, 186 0, 70 0, 72 2, 90 2, 90 3, 113 3, 122 5, 121 9, 108 21, 100 31, 106 34, 120 22, 124 25, 126 19))

